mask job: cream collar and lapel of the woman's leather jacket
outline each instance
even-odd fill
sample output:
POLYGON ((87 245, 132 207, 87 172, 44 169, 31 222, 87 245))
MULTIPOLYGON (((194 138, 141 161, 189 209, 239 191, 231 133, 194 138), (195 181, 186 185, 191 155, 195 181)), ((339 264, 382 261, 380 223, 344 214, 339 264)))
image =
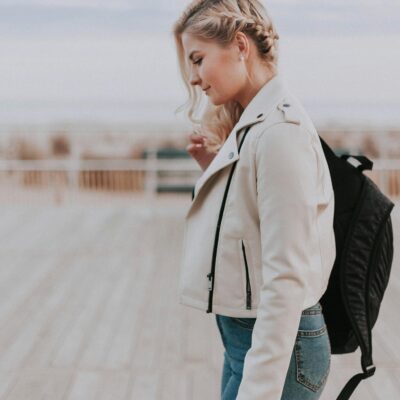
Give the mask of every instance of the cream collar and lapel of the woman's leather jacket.
POLYGON ((286 94, 286 83, 278 74, 261 87, 244 109, 239 121, 233 127, 217 155, 196 182, 192 204, 211 176, 239 159, 238 132, 243 128, 264 121, 286 94))

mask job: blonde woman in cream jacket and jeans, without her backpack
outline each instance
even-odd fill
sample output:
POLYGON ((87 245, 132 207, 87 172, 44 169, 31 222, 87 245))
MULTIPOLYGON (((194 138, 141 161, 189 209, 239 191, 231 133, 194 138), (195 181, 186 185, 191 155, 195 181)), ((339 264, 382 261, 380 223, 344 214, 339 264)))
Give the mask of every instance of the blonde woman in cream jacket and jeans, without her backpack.
POLYGON ((318 399, 330 369, 319 299, 336 253, 317 132, 278 74, 278 35, 259 1, 194 1, 174 37, 199 122, 187 150, 203 169, 180 302, 216 314, 223 400, 318 399))

